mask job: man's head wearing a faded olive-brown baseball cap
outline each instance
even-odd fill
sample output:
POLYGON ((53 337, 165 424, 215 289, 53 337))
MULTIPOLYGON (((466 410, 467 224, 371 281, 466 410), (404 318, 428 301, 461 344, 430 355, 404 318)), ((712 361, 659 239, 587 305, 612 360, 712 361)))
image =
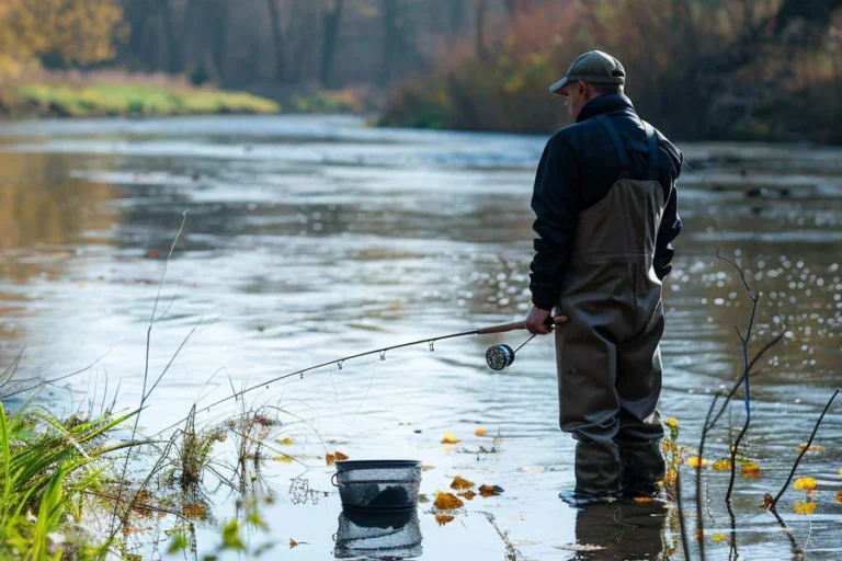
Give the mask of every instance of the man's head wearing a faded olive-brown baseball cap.
POLYGON ((601 50, 590 50, 577 58, 567 75, 549 88, 549 92, 568 99, 568 112, 573 118, 594 98, 606 93, 623 93, 626 71, 616 58, 601 50))

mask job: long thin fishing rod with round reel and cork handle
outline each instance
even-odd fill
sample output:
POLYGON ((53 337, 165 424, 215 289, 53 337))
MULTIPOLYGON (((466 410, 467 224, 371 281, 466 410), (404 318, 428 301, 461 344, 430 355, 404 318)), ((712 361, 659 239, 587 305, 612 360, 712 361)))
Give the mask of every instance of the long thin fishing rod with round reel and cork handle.
MULTIPOLYGON (((548 318, 545 325, 549 328, 550 330, 554 329, 556 325, 560 325, 562 323, 567 322, 566 316, 556 316, 555 318, 548 318)), ((363 356, 371 356, 378 354, 380 355, 380 360, 386 359, 386 353, 389 351, 395 351, 396 348, 403 348, 408 346, 414 346, 420 345, 422 343, 428 343, 430 345, 430 351, 433 351, 433 343, 436 341, 444 341, 447 339, 456 339, 456 337, 465 337, 470 335, 490 335, 493 333, 509 333, 511 331, 522 331, 526 329, 526 322, 525 321, 515 321, 513 323, 502 323, 499 325, 491 325, 488 328, 480 328, 475 329, 470 331, 462 331, 459 333, 451 333, 450 335, 441 335, 437 337, 429 337, 429 339, 419 339, 418 341, 412 341, 410 343, 401 343, 399 345, 392 345, 387 346, 383 348, 376 348, 374 351, 366 351, 365 353, 357 353, 355 355, 344 356, 342 358, 334 358, 333 360, 328 360, 326 363, 317 364, 315 366, 308 366, 307 368, 301 368, 300 370, 295 370, 293 373, 284 374, 282 376, 277 376, 275 378, 272 378, 271 380, 266 380, 261 383, 255 383, 254 386, 251 386, 249 388, 246 388, 243 390, 237 391, 230 396, 227 396, 225 398, 219 399, 218 401, 215 401, 214 403, 210 403, 209 405, 205 405, 202 408, 196 408, 196 410, 205 410, 205 412, 209 411, 212 408, 215 408, 217 405, 221 405, 223 403, 226 403, 230 400, 237 400, 244 396, 246 393, 251 393, 254 390, 265 388, 269 389, 269 387, 272 383, 276 383, 278 381, 283 381, 287 378, 292 378, 294 376, 299 376, 301 379, 304 379, 304 375, 311 371, 317 370, 319 368, 323 368, 326 366, 337 365, 339 366, 339 369, 342 369, 343 363, 346 360, 352 360, 354 358, 360 358, 363 356)), ((486 363, 488 366, 494 370, 502 370, 503 368, 511 366, 511 364, 514 362, 514 355, 517 351, 523 348, 526 343, 535 339, 535 335, 531 336, 525 343, 523 343, 521 346, 517 347, 517 350, 512 350, 509 345, 494 345, 488 350, 486 353, 486 363)), ((159 431, 158 434, 169 431, 170 428, 173 428, 183 422, 185 422, 189 417, 182 419, 178 423, 173 423, 172 425, 168 426, 167 428, 163 428, 162 431, 159 431)))

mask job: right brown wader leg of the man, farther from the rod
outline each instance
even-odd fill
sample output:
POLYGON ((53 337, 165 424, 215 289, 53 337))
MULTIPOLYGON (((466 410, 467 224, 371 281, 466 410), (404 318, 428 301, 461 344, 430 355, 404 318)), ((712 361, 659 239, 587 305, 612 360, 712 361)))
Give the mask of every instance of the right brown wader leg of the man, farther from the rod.
POLYGON ((622 486, 627 495, 644 496, 658 490, 665 465, 661 455, 663 427, 658 414, 661 396, 663 314, 650 329, 625 342, 617 353, 619 430, 614 442, 619 448, 622 486))

